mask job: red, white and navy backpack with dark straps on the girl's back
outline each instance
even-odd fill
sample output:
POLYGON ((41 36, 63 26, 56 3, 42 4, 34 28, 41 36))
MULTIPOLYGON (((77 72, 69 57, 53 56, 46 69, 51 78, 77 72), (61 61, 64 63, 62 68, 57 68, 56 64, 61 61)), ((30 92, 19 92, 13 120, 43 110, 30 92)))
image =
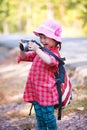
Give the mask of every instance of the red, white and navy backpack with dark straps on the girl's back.
MULTIPOLYGON (((26 40, 27 41, 27 40, 26 40)), ((29 42, 29 41, 27 41, 29 42)), ((57 85, 57 90, 59 94, 59 103, 54 105, 54 108, 58 108, 58 120, 61 120, 61 112, 62 108, 67 107, 67 105, 70 103, 72 100, 72 84, 70 82, 69 76, 66 73, 65 67, 64 67, 64 60, 65 58, 59 58, 56 56, 52 51, 49 49, 42 47, 38 42, 35 40, 32 40, 32 42, 35 42, 42 50, 45 52, 49 53, 52 55, 57 61, 59 61, 58 64, 58 69, 59 73, 55 72, 55 80, 56 80, 56 85, 57 85)), ((33 104, 31 105, 29 116, 31 115, 31 110, 32 110, 33 104)))

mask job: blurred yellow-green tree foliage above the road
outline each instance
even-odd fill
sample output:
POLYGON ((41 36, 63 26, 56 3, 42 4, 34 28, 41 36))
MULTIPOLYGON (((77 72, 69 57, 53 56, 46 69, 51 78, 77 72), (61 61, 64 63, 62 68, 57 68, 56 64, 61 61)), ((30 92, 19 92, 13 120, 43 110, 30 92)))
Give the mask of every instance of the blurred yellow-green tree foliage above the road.
POLYGON ((1 33, 32 32, 48 17, 87 33, 86 16, 86 0, 0 0, 1 33))

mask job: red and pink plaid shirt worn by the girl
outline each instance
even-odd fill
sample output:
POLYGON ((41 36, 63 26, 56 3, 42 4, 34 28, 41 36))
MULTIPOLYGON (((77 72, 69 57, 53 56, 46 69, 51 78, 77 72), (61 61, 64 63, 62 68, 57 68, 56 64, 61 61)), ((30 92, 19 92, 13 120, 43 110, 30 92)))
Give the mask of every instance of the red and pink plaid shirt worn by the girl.
MULTIPOLYGON (((60 57, 57 47, 50 50, 60 57)), ((58 71, 58 61, 53 56, 50 56, 50 58, 51 63, 48 65, 35 52, 26 54, 25 61, 32 61, 32 66, 23 96, 25 102, 36 101, 43 106, 58 103, 58 92, 54 77, 54 72, 58 71)))

